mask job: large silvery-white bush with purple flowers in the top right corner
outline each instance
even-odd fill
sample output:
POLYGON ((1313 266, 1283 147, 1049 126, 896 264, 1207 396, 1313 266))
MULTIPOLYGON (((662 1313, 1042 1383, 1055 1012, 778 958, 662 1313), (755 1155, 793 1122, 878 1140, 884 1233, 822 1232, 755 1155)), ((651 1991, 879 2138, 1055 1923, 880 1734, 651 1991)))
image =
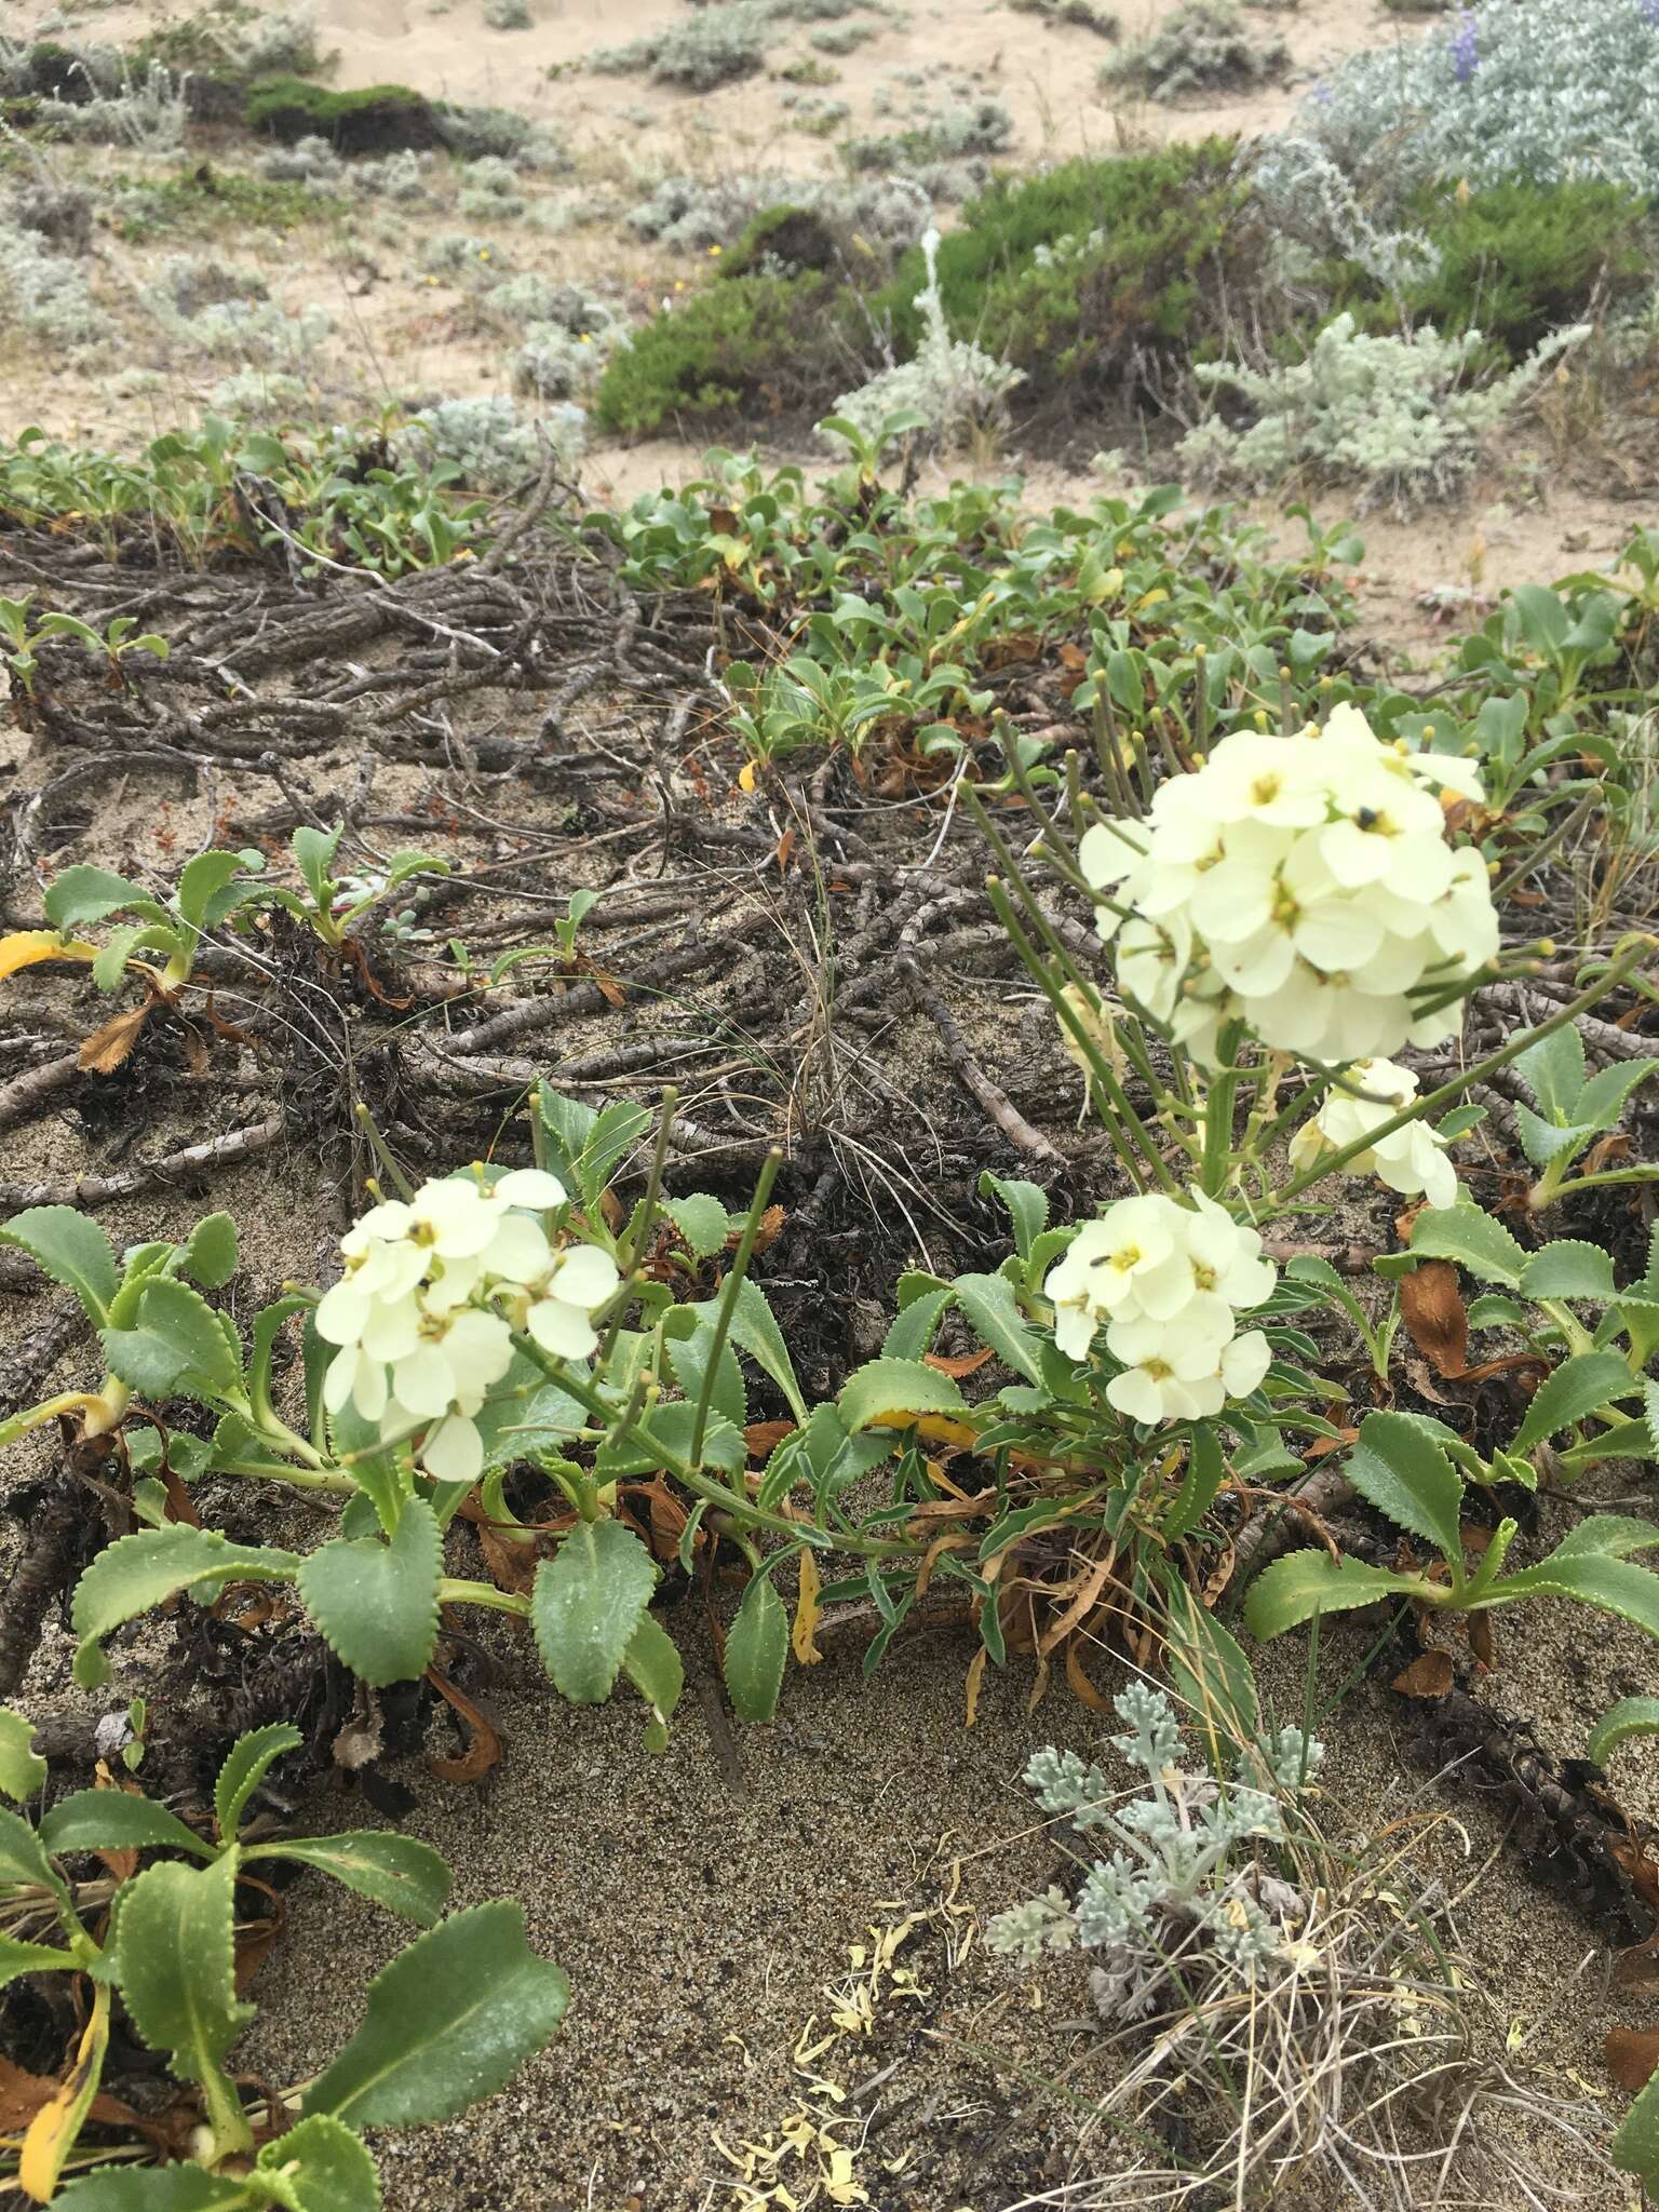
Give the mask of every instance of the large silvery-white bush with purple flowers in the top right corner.
POLYGON ((1480 0, 1451 27, 1349 55, 1314 88, 1298 128, 1391 197, 1436 175, 1652 190, 1659 7, 1480 0))

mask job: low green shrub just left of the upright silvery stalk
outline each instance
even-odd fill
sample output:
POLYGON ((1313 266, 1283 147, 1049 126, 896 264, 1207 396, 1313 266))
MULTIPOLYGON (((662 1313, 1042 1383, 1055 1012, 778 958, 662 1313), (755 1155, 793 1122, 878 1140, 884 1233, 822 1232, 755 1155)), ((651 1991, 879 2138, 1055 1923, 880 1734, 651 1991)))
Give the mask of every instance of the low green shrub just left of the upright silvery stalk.
POLYGON ((734 276, 692 292, 606 363, 593 400, 608 431, 653 431, 734 409, 823 407, 847 380, 852 294, 827 276, 734 276))

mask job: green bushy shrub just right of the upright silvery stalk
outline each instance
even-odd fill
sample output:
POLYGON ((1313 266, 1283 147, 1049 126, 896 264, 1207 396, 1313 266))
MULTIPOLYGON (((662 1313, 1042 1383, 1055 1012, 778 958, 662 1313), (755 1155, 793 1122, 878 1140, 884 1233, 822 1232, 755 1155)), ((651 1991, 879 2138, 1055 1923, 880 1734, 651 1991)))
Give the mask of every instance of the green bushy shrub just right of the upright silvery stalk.
MULTIPOLYGON (((1263 250, 1237 144, 1203 139, 1000 177, 940 241, 940 296, 949 327, 1024 369, 1035 400, 1113 380, 1137 349, 1199 349, 1221 301, 1252 290, 1263 250)), ((922 281, 914 250, 872 301, 900 354, 922 336, 922 281)))

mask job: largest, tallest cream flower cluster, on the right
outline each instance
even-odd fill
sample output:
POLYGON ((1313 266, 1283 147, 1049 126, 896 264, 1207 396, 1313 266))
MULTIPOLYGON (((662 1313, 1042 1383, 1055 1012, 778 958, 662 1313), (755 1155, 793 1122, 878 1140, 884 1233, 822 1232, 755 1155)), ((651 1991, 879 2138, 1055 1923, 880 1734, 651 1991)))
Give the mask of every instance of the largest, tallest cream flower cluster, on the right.
POLYGON ((1354 706, 1221 739, 1144 821, 1082 841, 1124 998, 1203 1066, 1237 1020, 1323 1066, 1455 1037, 1455 998, 1431 1000, 1493 960, 1498 914, 1438 790, 1482 799, 1473 763, 1385 745, 1354 706))

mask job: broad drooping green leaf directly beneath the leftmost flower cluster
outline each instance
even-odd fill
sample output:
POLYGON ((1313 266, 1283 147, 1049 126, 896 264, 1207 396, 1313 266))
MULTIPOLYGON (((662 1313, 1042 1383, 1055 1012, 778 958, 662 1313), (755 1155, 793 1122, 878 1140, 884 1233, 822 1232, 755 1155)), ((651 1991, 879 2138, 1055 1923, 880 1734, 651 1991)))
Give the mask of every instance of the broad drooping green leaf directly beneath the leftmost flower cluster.
POLYGON ((427 1672, 438 1646, 442 1531, 425 1498, 405 1502, 392 1542, 334 1537, 296 1579, 327 1648, 372 1688, 427 1672))

